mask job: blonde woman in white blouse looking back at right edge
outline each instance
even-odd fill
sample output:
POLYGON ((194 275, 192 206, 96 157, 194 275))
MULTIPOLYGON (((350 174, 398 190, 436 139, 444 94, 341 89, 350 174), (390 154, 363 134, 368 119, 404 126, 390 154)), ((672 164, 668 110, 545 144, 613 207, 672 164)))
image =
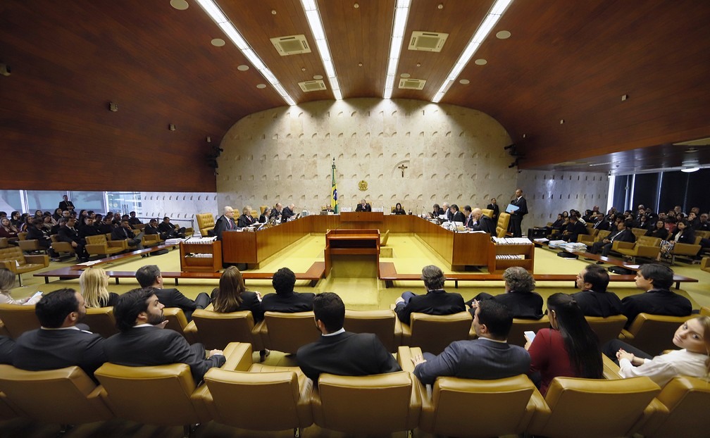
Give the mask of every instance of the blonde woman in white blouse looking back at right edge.
POLYGON ((688 319, 675 331, 673 350, 660 356, 651 356, 618 339, 609 341, 604 354, 617 359, 622 377, 647 376, 663 386, 676 376, 710 377, 710 317, 688 319))

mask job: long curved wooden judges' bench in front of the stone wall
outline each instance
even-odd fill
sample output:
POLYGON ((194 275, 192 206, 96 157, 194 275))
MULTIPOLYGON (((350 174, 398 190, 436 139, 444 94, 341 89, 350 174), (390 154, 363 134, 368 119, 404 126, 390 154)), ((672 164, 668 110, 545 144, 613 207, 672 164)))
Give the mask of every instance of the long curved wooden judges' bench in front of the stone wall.
POLYGON ((417 216, 381 212, 317 214, 286 222, 261 231, 224 231, 224 263, 248 263, 250 268, 311 233, 333 229, 377 229, 381 234, 413 233, 427 243, 453 270, 466 265, 488 265, 491 236, 484 233, 454 233, 417 216))

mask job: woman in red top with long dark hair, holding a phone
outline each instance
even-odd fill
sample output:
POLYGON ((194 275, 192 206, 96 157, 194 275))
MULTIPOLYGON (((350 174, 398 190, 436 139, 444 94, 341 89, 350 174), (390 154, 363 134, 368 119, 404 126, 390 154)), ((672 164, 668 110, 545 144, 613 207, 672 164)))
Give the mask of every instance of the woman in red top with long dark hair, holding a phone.
POLYGON ((599 338, 584 319, 584 313, 567 294, 547 298, 550 329, 540 329, 525 348, 530 353, 530 373, 540 373, 540 393, 545 395, 552 379, 562 377, 602 378, 599 338))

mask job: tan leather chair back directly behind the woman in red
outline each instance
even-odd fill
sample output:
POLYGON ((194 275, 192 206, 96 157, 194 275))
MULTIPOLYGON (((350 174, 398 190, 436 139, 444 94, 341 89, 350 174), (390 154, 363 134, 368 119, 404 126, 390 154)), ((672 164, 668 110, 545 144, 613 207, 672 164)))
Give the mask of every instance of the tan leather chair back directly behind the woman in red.
POLYGON ((619 380, 557 377, 528 433, 545 437, 628 437, 660 408, 648 377, 619 380))

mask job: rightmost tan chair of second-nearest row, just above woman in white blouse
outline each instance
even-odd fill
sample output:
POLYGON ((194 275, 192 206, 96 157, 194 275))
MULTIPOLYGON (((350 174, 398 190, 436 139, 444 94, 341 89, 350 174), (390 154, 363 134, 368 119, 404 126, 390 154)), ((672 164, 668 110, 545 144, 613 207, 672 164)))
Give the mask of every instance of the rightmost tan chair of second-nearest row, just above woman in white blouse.
MULTIPOLYGON (((666 317, 657 314, 640 313, 631 323, 630 327, 621 331, 619 339, 628 342, 637 349, 657 356, 664 350, 675 349, 673 335, 675 331, 688 319, 687 317, 666 317)), ((2 319, 2 317, 0 317, 2 319)))

